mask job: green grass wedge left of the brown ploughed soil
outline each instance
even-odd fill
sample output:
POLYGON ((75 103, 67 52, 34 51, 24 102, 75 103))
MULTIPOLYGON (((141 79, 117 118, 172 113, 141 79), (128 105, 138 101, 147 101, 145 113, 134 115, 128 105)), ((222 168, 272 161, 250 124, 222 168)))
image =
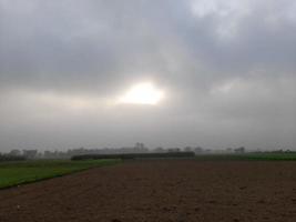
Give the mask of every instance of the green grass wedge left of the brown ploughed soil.
POLYGON ((115 164, 119 162, 121 162, 121 160, 37 160, 0 162, 0 189, 61 176, 81 170, 115 164))

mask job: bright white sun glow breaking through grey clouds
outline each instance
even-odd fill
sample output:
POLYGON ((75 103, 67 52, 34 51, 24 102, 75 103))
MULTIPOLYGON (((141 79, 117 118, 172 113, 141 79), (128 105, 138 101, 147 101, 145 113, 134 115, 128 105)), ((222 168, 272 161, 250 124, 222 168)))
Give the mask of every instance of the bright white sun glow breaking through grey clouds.
POLYGON ((141 82, 132 85, 119 98, 119 103, 131 104, 157 104, 164 97, 164 92, 152 82, 141 82))

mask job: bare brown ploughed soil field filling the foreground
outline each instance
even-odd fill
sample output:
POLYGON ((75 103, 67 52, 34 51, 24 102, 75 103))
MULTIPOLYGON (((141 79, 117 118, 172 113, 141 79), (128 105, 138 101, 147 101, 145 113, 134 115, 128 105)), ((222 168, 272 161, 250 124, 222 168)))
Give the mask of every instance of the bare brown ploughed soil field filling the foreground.
POLYGON ((1 222, 296 221, 296 162, 147 160, 0 191, 1 222))

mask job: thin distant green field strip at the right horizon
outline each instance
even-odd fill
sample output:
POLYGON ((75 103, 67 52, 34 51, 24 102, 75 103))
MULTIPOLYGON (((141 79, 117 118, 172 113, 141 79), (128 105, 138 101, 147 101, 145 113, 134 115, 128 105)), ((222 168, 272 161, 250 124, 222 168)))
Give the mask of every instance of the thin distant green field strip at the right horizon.
POLYGON ((254 152, 244 154, 201 154, 196 160, 296 161, 296 152, 254 152))

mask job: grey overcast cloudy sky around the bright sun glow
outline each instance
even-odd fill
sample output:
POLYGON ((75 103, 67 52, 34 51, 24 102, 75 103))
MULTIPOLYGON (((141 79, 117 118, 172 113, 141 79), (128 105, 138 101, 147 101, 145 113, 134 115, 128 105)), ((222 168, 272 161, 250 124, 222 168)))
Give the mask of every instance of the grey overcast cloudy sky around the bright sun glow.
POLYGON ((296 150, 296 1, 0 0, 0 152, 137 141, 296 150))

